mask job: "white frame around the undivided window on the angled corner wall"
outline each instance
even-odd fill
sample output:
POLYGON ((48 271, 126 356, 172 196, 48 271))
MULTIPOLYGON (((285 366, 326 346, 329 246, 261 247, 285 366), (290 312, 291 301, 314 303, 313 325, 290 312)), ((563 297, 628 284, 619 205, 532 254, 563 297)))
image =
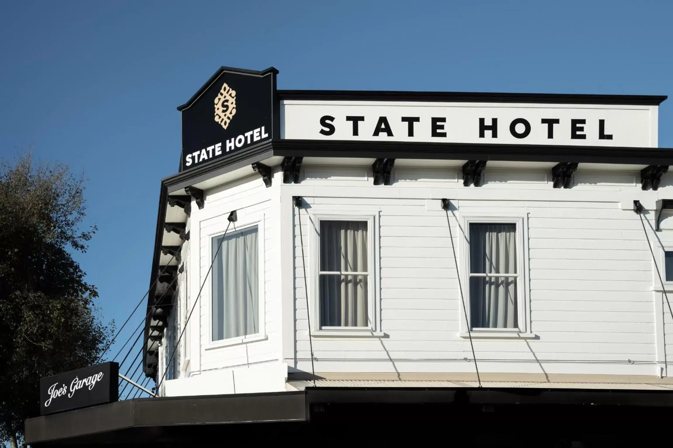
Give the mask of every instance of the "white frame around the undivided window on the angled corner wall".
MULTIPOLYGON (((242 214, 239 213, 239 217, 242 214)), ((223 214, 221 216, 217 216, 215 218, 210 218, 211 220, 218 220, 221 221, 220 225, 217 226, 221 228, 221 230, 217 230, 217 232, 212 232, 207 234, 207 254, 208 254, 208 262, 213 261, 213 238, 217 238, 218 236, 222 236, 225 233, 225 230, 227 228, 227 224, 229 222, 227 221, 227 217, 229 214, 223 214)), ((205 292, 207 291, 207 294, 202 294, 201 298, 203 300, 204 297, 208 298, 208 305, 207 305, 207 318, 208 318, 208 345, 205 347, 206 350, 211 350, 211 349, 219 349, 221 347, 230 347, 232 345, 240 345, 240 344, 247 344, 247 343, 252 343, 252 342, 257 342, 257 341, 264 341, 267 339, 267 333, 266 333, 266 310, 265 310, 265 304, 266 304, 266 279, 264 278, 264 220, 266 216, 264 214, 260 215, 252 215, 252 216, 246 216, 243 220, 239 220, 238 222, 232 222, 232 225, 229 226, 229 230, 227 231, 227 234, 230 234, 232 232, 238 232, 240 230, 246 230, 251 227, 257 227, 257 260, 259 263, 259 266, 257 267, 257 281, 259 283, 258 285, 258 323, 259 323, 259 330, 258 332, 254 334, 246 334, 245 336, 237 336, 233 338, 227 338, 227 339, 220 339, 219 341, 213 341, 213 277, 212 277, 212 272, 209 273, 208 278, 206 280, 206 285, 204 286, 205 292), (206 289, 207 288, 207 289, 206 289)), ((204 225, 204 222, 201 223, 201 226, 204 225)), ((214 265, 213 265, 214 267, 214 265)), ((203 277, 201 278, 201 281, 203 281, 203 277)))

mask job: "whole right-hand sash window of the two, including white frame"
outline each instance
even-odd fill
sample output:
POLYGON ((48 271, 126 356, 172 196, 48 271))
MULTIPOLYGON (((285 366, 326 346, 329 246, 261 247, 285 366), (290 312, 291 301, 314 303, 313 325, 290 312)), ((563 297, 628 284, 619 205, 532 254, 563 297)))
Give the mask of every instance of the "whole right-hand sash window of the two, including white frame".
POLYGON ((467 312, 467 318, 460 313, 461 337, 535 337, 530 333, 527 222, 527 212, 461 214, 458 252, 467 312))

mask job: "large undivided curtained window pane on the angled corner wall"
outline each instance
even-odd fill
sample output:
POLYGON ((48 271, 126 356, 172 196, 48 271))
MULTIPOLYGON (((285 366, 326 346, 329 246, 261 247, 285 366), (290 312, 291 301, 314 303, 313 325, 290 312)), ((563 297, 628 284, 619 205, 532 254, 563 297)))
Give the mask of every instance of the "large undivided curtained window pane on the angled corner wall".
POLYGON ((213 238, 213 341, 258 332, 257 228, 213 238))

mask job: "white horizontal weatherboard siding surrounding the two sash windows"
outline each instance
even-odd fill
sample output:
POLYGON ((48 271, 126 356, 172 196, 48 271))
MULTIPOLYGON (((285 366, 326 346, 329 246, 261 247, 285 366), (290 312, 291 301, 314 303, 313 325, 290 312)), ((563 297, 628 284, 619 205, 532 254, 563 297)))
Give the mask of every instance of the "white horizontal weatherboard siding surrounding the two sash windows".
MULTIPOLYGON (((592 182, 600 187, 598 184, 604 182, 588 174, 581 179, 584 188, 590 189, 592 182)), ((544 191, 551 191, 546 194, 552 196, 559 190, 542 183, 539 173, 538 183, 535 176, 526 180, 544 188, 536 193, 522 189, 522 183, 515 188, 517 181, 511 175, 497 175, 500 177, 491 177, 491 185, 508 188, 506 199, 485 185, 479 190, 488 191, 483 199, 454 201, 458 210, 452 210, 448 222, 445 212, 429 209, 427 198, 409 198, 418 189, 413 193, 403 189, 380 193, 388 187, 369 186, 360 189, 358 197, 347 197, 355 193, 333 194, 326 188, 312 189, 313 195, 304 196, 310 213, 343 210, 344 214, 367 214, 378 210, 380 214, 376 230, 381 256, 377 279, 381 309, 377 318, 384 337, 314 335, 314 353, 321 360, 316 362, 316 371, 470 371, 470 363, 448 361, 471 358, 469 341, 459 334, 462 305, 452 252, 452 245, 458 250, 460 238, 456 216, 487 212, 497 216, 526 210, 530 248, 527 295, 530 330, 536 339, 474 339, 478 358, 501 360, 489 361, 485 371, 539 372, 537 358, 546 363, 546 371, 555 373, 655 373, 651 255, 642 230, 638 234, 639 218, 631 210, 621 210, 619 195, 613 191, 599 188, 595 194, 585 191, 583 196, 565 195, 568 199, 563 201, 531 200, 536 195, 542 197, 544 191), (400 195, 400 199, 393 195, 400 195), (493 199, 487 199, 489 196, 493 199), (429 358, 441 361, 433 363, 429 358), (391 359, 401 360, 394 361, 392 370, 391 359), (507 359, 513 365, 502 361, 507 359)), ((628 180, 630 175, 605 179, 618 183, 621 177, 628 180)), ((396 185, 404 183, 398 181, 396 185)), ((296 235, 296 212, 294 224, 296 235)), ((301 225, 304 251, 310 257, 310 226, 304 212, 301 225)), ((295 238, 295 355, 308 359, 304 260, 299 243, 295 238)), ((673 345, 673 336, 666 343, 673 345)), ((297 362, 298 369, 306 367, 304 361, 297 362)))

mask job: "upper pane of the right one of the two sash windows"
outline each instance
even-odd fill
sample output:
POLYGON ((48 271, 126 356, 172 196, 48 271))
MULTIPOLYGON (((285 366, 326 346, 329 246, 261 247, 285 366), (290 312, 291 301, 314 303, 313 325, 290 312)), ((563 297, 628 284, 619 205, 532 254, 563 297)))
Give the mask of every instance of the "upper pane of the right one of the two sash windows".
POLYGON ((470 273, 516 274, 516 224, 470 223, 470 273))

